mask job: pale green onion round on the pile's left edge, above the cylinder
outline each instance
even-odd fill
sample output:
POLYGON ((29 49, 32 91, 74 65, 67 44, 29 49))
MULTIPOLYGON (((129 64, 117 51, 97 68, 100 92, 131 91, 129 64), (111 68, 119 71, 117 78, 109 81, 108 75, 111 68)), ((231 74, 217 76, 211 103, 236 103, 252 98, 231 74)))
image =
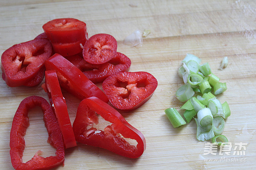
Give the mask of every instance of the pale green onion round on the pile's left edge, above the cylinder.
POLYGON ((177 99, 180 100, 180 102, 186 102, 194 94, 195 94, 195 92, 193 91, 192 87, 188 83, 182 85, 176 91, 176 97, 177 97, 177 99))

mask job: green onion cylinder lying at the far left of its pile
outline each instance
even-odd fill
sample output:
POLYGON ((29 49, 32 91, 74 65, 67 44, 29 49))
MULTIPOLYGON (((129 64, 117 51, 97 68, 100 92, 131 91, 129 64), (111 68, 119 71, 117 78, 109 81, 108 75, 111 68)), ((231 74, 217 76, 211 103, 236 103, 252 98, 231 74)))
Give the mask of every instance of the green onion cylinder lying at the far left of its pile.
POLYGON ((171 107, 169 109, 165 109, 165 114, 174 128, 178 128, 186 124, 180 113, 175 108, 171 107))

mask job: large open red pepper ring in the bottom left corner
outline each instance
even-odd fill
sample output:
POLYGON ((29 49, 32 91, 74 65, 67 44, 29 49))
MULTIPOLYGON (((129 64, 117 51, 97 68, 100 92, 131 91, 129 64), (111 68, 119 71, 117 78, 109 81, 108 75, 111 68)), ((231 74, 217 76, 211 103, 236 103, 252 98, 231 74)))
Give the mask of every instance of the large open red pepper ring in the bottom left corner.
POLYGON ((12 166, 16 170, 47 170, 64 162, 64 143, 57 119, 48 102, 39 96, 30 96, 22 100, 19 105, 10 131, 10 157, 12 166), (24 136, 29 126, 29 109, 41 106, 43 110, 43 120, 48 132, 48 143, 56 148, 55 155, 43 158, 38 156, 38 152, 26 163, 22 163, 23 151, 25 148, 24 136))

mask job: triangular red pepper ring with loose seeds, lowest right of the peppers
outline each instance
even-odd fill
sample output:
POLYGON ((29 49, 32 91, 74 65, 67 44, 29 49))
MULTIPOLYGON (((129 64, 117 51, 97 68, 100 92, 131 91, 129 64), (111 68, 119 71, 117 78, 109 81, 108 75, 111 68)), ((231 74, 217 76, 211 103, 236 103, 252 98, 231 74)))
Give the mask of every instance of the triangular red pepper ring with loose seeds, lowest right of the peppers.
POLYGON ((78 142, 105 148, 128 158, 138 158, 146 149, 143 134, 125 121, 117 110, 96 97, 81 101, 73 123, 73 130, 78 142), (98 124, 96 114, 100 114, 105 121, 112 124, 104 130, 94 128, 93 125, 98 124), (137 145, 130 145, 122 136, 135 139, 137 145))

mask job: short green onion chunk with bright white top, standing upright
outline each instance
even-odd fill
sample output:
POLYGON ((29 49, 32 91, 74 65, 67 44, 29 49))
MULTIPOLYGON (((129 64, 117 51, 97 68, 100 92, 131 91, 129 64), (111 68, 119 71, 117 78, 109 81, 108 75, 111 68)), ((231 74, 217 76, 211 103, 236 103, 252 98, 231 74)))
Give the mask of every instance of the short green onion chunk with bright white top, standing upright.
MULTIPOLYGON (((201 126, 208 126, 213 121, 213 116, 209 108, 203 108, 198 111, 198 122, 201 126)), ((214 130, 214 129, 213 129, 214 130)))

